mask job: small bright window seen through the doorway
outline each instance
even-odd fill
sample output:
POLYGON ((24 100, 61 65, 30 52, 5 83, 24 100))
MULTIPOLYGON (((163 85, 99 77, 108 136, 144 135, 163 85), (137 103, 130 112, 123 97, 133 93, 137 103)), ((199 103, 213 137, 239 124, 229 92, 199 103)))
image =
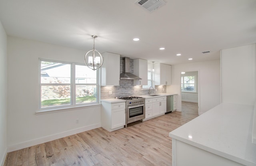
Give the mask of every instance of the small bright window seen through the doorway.
POLYGON ((181 77, 181 91, 182 92, 196 92, 196 76, 182 76, 181 77))

